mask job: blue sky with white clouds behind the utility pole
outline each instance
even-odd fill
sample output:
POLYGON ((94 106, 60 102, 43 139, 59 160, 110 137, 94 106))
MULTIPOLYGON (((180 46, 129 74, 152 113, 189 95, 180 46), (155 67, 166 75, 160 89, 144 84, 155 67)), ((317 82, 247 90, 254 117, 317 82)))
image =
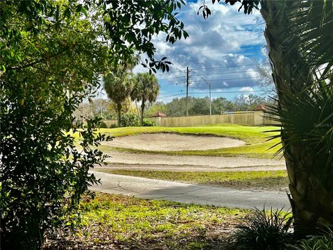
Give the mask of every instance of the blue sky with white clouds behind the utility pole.
MULTIPOLYGON (((185 24, 189 33, 187 40, 174 44, 165 42, 166 35, 157 35, 153 42, 157 49, 155 56, 167 58, 173 63, 169 73, 157 72, 160 83, 158 101, 169 102, 176 97, 185 97, 185 69, 189 67, 189 95, 208 96, 205 78, 212 86, 212 97, 233 99, 239 94, 262 94, 255 73, 257 63, 262 58, 264 23, 259 11, 252 15, 238 12, 239 6, 225 5, 206 1, 212 10, 208 19, 197 15, 202 0, 187 1, 182 6, 178 19, 185 24), (239 92, 246 91, 246 92, 239 92)), ((134 73, 146 72, 137 66, 134 73)))

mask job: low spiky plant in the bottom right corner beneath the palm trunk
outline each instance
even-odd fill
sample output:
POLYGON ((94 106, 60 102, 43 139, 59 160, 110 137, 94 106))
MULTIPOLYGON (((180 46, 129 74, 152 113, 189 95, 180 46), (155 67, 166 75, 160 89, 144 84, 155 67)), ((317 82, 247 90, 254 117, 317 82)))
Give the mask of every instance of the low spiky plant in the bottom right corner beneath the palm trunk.
POLYGON ((332 226, 325 226, 321 235, 311 236, 309 239, 300 240, 296 246, 290 246, 295 250, 332 250, 333 231, 332 226))

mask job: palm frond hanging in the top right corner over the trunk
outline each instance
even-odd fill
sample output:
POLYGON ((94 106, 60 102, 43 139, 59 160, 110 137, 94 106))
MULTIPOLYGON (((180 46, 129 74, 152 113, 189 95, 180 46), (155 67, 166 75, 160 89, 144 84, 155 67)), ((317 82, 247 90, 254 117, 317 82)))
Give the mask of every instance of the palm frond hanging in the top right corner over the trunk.
POLYGON ((291 29, 302 57, 319 79, 332 77, 333 69, 333 1, 300 1, 297 12, 291 13, 291 29))

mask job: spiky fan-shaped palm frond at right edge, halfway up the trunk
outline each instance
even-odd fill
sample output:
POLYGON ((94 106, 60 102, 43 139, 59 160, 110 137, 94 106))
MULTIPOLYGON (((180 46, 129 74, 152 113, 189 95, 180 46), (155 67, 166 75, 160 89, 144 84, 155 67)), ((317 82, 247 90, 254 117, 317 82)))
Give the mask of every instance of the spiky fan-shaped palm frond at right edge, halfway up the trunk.
MULTIPOLYGON (((284 131, 288 139, 279 153, 291 144, 303 143, 313 149, 313 153, 325 153, 331 164, 333 153, 333 85, 318 82, 298 94, 286 92, 280 100, 280 106, 268 106, 267 113, 275 116, 275 121, 282 126, 280 135, 271 136, 271 140, 283 137, 284 131), (281 108, 284 107, 284 108, 281 108)), ((276 130, 273 130, 276 132, 276 130)), ((277 146, 277 145, 274 145, 277 146)))

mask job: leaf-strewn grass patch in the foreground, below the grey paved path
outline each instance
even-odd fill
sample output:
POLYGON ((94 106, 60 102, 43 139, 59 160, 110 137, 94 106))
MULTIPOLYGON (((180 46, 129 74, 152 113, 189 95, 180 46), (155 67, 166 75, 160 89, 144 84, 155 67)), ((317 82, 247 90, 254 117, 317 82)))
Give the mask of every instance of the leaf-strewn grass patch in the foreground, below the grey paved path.
POLYGON ((82 202, 82 228, 46 249, 228 249, 225 237, 249 210, 97 193, 82 202))

